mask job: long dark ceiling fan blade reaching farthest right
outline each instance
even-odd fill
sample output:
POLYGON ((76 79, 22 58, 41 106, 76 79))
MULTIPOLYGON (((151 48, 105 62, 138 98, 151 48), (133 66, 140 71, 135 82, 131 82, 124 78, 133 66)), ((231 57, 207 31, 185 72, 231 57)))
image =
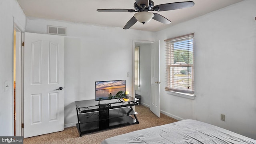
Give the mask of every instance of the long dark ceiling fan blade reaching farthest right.
POLYGON ((159 4, 154 6, 153 10, 156 10, 156 11, 177 10, 180 8, 188 8, 188 7, 194 6, 194 4, 195 3, 193 1, 159 4))

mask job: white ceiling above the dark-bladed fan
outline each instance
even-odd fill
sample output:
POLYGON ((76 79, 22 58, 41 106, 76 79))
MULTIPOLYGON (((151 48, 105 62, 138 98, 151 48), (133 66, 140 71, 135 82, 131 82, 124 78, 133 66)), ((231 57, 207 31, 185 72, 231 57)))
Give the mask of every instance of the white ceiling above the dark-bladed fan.
MULTIPOLYGON (((97 9, 124 8, 134 9, 135 0, 17 0, 26 16, 81 22, 88 24, 123 28, 135 14, 130 12, 97 12, 97 9)), ((155 5, 188 0, 153 0, 155 5)), ((151 20, 146 24, 136 22, 130 29, 158 31, 224 8, 242 0, 193 0, 190 8, 156 12, 170 20, 171 24, 162 24, 151 20)))

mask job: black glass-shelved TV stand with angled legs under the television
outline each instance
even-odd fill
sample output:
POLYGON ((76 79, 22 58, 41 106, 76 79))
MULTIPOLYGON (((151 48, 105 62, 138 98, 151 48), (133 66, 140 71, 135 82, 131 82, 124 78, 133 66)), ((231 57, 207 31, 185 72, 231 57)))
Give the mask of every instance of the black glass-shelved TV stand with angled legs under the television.
POLYGON ((108 101, 107 104, 98 104, 95 100, 76 101, 76 113, 79 135, 126 126, 139 124, 138 118, 132 106, 138 105, 137 98, 129 97, 128 101, 120 102, 117 99, 108 101), (131 116, 134 116, 132 118, 131 116))

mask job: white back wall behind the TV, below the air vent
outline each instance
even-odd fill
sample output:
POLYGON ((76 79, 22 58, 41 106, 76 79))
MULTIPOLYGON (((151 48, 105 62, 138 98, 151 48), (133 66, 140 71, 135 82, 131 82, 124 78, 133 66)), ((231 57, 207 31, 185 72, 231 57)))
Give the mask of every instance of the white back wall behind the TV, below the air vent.
POLYGON ((65 127, 77 123, 74 101, 95 98, 95 81, 126 80, 132 95, 133 41, 154 41, 152 32, 123 30, 39 18, 26 19, 26 32, 47 33, 47 25, 67 27, 65 39, 65 127), (74 45, 75 44, 75 45, 74 45))

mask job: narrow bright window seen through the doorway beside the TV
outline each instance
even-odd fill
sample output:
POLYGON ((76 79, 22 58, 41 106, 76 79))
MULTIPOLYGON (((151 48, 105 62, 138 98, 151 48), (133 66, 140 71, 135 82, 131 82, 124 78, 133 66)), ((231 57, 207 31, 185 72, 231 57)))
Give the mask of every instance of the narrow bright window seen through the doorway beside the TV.
POLYGON ((140 87, 140 47, 135 48, 134 50, 134 78, 135 78, 135 87, 140 87))

